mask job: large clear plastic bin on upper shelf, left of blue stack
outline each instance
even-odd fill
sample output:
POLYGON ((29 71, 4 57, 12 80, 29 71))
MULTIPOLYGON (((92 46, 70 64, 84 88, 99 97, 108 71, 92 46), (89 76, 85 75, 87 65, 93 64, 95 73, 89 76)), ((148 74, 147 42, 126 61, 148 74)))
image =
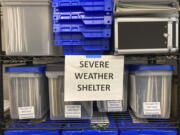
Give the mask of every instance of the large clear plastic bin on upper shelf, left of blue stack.
POLYGON ((7 55, 58 55, 52 42, 51 10, 48 0, 0 0, 3 37, 7 55))

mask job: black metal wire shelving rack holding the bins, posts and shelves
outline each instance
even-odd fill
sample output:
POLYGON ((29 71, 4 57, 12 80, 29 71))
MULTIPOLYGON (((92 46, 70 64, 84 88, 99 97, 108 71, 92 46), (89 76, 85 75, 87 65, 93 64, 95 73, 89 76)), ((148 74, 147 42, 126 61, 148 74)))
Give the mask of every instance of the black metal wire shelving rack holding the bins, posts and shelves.
MULTIPOLYGON (((1 21, 0 21, 0 31, 1 31, 1 21)), ((1 35, 0 35, 0 41, 1 41, 1 35)), ((180 80, 180 53, 174 53, 174 54, 157 54, 157 55, 128 55, 127 59, 128 60, 132 60, 132 61, 137 61, 140 59, 145 59, 147 60, 149 63, 155 63, 157 60, 174 60, 176 61, 176 67, 177 67, 177 74, 175 76, 175 78, 179 81, 180 80)), ((4 105, 3 105, 3 64, 20 64, 20 63, 33 63, 33 61, 44 61, 44 62, 50 62, 51 60, 56 60, 56 61, 61 61, 62 59, 64 59, 64 56, 7 56, 5 55, 5 53, 2 51, 2 43, 0 42, 0 135, 3 135, 3 130, 7 129, 7 125, 9 125, 11 123, 11 120, 6 120, 4 117, 4 105)), ((170 127, 164 127, 164 128, 175 128, 178 130, 178 135, 180 135, 180 82, 178 82, 178 90, 177 90, 177 116, 175 118, 172 118, 171 120, 167 121, 167 123, 171 124, 172 126, 170 127)), ((121 119, 123 118, 124 120, 126 120, 128 118, 128 116, 126 114, 113 114, 112 115, 113 119, 121 119)), ((36 121, 37 122, 37 121, 36 121)), ((18 121, 16 124, 18 125, 24 125, 26 123, 26 121, 18 121)), ((56 124, 58 125, 62 125, 61 128, 58 129, 66 129, 65 127, 63 127, 63 125, 66 122, 59 122, 57 121, 56 124)), ((162 124, 164 122, 162 121, 154 121, 152 123, 156 123, 158 124, 162 124)), ((30 122, 28 123, 29 125, 33 124, 34 122, 30 122)), ((47 122, 47 123, 43 123, 44 125, 53 125, 52 122, 47 122)), ((77 123, 76 123, 77 124, 77 123)), ((80 125, 83 125, 85 123, 78 123, 80 125)), ((117 124, 117 123, 116 123, 117 124)), ((143 125, 146 123, 142 123, 143 125)), ((131 126, 133 124, 128 124, 126 127, 122 127, 123 129, 140 129, 140 128, 144 128, 142 127, 141 123, 138 124, 137 126, 131 126)), ((117 128, 117 127, 115 127, 117 128)), ((121 127, 118 127, 121 128, 121 127)), ((152 126, 147 126, 146 128, 159 128, 157 127, 152 127, 152 126)), ((162 128, 162 127, 161 127, 162 128)), ((16 128, 8 128, 8 129, 16 129, 16 128)), ((19 129, 19 128, 17 128, 19 129)), ((22 128, 21 128, 22 129, 22 128)), ((29 129, 28 127, 24 127, 23 129, 29 129)), ((41 127, 41 128, 37 128, 37 129, 44 129, 44 130, 54 130, 56 128, 46 128, 46 127, 41 127)), ((76 128, 78 129, 78 128, 76 128)), ((82 128, 85 129, 85 128, 82 128)), ((111 128, 113 129, 113 128, 111 128)))

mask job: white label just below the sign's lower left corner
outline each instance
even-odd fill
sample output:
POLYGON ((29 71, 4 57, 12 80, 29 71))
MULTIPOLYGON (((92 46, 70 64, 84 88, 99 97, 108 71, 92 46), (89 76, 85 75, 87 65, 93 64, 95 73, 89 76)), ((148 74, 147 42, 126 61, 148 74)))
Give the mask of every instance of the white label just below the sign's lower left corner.
POLYGON ((65 105, 65 118, 81 118, 81 105, 65 105))

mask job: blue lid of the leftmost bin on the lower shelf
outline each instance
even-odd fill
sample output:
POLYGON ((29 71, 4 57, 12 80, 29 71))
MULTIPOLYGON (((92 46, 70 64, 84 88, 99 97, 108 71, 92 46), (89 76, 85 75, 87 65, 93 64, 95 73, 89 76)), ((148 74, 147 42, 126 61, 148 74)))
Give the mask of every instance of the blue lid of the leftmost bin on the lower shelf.
POLYGON ((6 72, 45 72, 45 65, 21 65, 15 67, 6 67, 6 72))

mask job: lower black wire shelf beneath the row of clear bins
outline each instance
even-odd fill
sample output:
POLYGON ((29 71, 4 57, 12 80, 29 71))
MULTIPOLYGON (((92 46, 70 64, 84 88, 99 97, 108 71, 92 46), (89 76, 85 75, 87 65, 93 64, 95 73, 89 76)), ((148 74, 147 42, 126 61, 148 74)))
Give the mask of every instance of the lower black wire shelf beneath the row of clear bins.
POLYGON ((66 130, 66 129, 177 129, 179 123, 175 121, 175 119, 170 120, 145 120, 145 122, 141 123, 133 123, 130 115, 124 113, 115 113, 115 114, 108 114, 110 116, 110 120, 113 121, 110 124, 107 123, 97 123, 91 124, 89 121, 26 121, 26 120, 16 120, 16 121, 9 121, 7 128, 8 130, 29 130, 29 129, 43 129, 43 130, 66 130), (75 128, 68 128, 67 124, 71 124, 73 126, 79 125, 75 128), (10 127, 9 127, 10 125, 10 127), (88 127, 86 127, 86 125, 88 127), (89 126, 90 125, 90 126, 89 126), (101 126, 99 126, 101 125, 101 126), (113 125, 113 126, 109 126, 113 125), (33 127, 33 128, 32 128, 33 127))

